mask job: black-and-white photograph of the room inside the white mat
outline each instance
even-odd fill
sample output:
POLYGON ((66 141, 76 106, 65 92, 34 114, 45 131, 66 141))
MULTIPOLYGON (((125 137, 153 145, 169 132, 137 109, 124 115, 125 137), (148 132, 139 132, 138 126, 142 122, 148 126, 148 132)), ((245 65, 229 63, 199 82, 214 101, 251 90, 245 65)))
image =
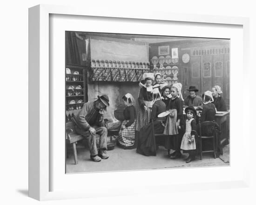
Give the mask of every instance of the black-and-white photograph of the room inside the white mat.
POLYGON ((66 31, 66 173, 229 166, 229 47, 66 31))

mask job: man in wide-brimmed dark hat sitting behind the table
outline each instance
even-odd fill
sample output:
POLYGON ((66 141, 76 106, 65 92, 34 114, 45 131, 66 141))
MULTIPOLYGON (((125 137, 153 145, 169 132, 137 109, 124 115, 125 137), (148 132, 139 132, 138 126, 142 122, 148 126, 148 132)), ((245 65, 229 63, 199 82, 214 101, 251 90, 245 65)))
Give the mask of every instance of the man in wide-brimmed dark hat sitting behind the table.
POLYGON ((202 109, 202 98, 196 95, 198 89, 195 86, 189 86, 189 96, 183 101, 183 108, 194 107, 195 109, 202 109))

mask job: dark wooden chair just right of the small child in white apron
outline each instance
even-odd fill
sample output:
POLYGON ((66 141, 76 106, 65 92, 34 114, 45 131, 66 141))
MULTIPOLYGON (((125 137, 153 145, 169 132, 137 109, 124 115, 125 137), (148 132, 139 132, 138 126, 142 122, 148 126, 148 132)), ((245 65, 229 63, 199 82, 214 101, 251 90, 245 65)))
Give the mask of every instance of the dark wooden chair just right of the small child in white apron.
POLYGON ((214 155, 214 159, 216 159, 216 152, 217 152, 217 134, 216 134, 216 131, 213 130, 213 133, 212 135, 210 136, 202 136, 202 128, 205 128, 205 127, 215 127, 215 122, 212 122, 212 121, 205 121, 205 122, 202 122, 200 121, 200 118, 199 118, 199 121, 198 121, 198 131, 199 131, 199 139, 200 139, 200 160, 202 160, 202 153, 207 153, 207 152, 212 152, 213 155, 214 155), (213 148, 212 150, 207 150, 207 151, 202 151, 202 140, 205 140, 205 139, 212 139, 212 145, 213 145, 213 148))

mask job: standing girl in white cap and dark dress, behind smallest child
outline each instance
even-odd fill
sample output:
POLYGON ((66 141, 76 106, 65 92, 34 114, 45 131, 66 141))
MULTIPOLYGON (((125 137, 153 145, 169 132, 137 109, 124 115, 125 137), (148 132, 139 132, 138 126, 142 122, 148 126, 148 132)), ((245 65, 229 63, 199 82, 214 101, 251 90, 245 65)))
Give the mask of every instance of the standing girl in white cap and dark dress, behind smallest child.
MULTIPOLYGON (((165 140, 165 148, 168 150, 168 156, 170 159, 176 159, 181 157, 181 140, 183 136, 182 126, 183 126, 183 108, 182 108, 182 84, 175 83, 171 87, 171 99, 168 103, 167 110, 176 110, 176 127, 178 128, 178 133, 176 135, 169 135, 165 140), (170 154, 170 149, 175 150, 170 154)), ((167 124, 166 124, 167 126, 167 124)))

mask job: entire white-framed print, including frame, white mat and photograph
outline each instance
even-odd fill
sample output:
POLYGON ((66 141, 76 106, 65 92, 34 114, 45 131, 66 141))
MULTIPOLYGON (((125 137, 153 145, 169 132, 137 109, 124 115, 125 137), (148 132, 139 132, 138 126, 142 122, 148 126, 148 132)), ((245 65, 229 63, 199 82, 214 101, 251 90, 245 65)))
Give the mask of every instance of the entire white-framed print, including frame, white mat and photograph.
POLYGON ((30 8, 29 196, 51 200, 247 187, 249 151, 243 146, 249 130, 231 113, 246 109, 236 100, 237 92, 245 95, 236 82, 241 81, 237 70, 249 69, 248 29, 246 18, 156 13, 152 19, 146 12, 30 8), (172 58, 188 53, 189 61, 184 68, 182 61, 169 66, 165 60, 159 72, 159 61, 150 59, 169 55, 169 45, 175 46, 172 58), (217 64, 222 75, 212 68, 205 76, 204 64, 217 64), (167 95, 171 89, 179 96, 167 95), (178 118, 177 108, 166 110, 161 100, 165 91, 168 106, 170 97, 188 101, 178 118), (191 106, 189 96, 197 96, 198 105, 191 106), (214 104, 217 97, 224 110, 214 104), (163 112, 154 113, 158 103, 163 112), (205 105, 217 108, 209 120, 217 128, 213 135, 202 129, 205 105), (156 121, 163 113, 167 117, 156 121), (208 150, 199 149, 207 147, 203 138, 210 141, 208 150), (243 156, 236 151, 241 149, 243 156))

